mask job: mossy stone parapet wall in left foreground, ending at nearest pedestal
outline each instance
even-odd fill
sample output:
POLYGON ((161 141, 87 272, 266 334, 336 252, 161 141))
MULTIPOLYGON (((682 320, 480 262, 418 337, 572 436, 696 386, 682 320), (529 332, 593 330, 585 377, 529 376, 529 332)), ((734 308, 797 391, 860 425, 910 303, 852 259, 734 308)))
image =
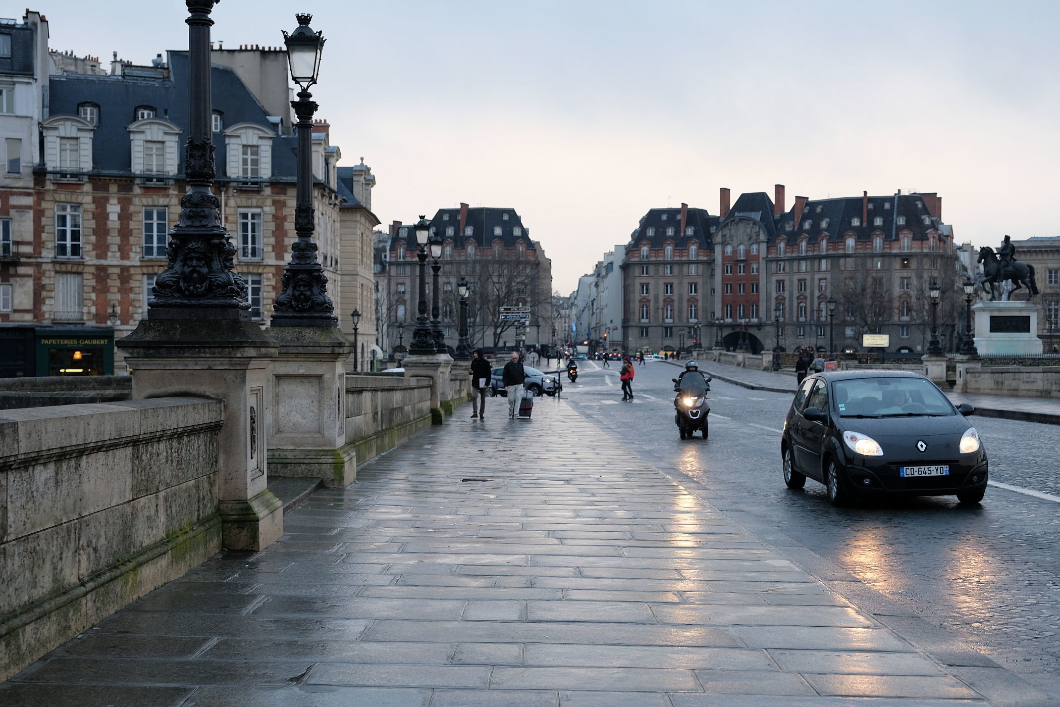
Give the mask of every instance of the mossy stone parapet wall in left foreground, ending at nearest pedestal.
POLYGON ((220 549, 223 404, 0 414, 0 679, 220 549))

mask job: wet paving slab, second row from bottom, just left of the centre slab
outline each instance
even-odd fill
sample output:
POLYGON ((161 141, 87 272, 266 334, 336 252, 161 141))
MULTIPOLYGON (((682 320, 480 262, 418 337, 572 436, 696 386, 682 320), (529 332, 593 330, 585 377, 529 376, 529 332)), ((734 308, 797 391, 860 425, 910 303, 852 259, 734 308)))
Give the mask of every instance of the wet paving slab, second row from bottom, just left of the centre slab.
POLYGON ((463 687, 489 686, 490 668, 474 666, 387 666, 319 664, 306 685, 358 687, 463 687))

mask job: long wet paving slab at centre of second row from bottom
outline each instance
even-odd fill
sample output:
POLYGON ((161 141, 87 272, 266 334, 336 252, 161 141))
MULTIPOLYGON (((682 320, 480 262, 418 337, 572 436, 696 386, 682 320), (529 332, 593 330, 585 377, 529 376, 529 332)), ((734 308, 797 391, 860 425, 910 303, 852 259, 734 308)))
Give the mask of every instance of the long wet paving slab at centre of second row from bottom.
POLYGON ((490 688, 524 690, 700 690, 690 670, 654 668, 494 668, 490 688))

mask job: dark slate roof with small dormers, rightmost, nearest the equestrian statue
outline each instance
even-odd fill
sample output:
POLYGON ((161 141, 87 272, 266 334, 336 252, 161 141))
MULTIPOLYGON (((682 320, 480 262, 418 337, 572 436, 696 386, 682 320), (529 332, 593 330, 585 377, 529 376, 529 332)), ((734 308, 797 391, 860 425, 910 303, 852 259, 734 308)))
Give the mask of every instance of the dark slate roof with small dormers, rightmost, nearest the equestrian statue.
MULTIPOLYGON (((795 207, 777 219, 776 235, 784 235, 789 241, 799 234, 807 234, 816 242, 823 234, 830 241, 838 241, 853 233, 859 241, 869 241, 877 232, 882 232, 885 241, 898 241, 902 231, 909 231, 914 241, 928 238, 928 231, 939 230, 939 220, 933 218, 928 207, 918 194, 893 194, 890 196, 868 197, 867 223, 851 226, 851 219, 862 218, 862 197, 845 196, 833 199, 808 200, 799 219, 798 229, 795 225, 795 207), (904 216, 905 223, 899 225, 898 217, 904 216), (929 223, 924 223, 923 217, 929 223), (876 219, 882 218, 877 226, 876 219), (811 222, 810 228, 806 223, 811 222), (792 230, 788 230, 792 224, 792 230)), ((772 243, 774 238, 770 238, 772 243)))

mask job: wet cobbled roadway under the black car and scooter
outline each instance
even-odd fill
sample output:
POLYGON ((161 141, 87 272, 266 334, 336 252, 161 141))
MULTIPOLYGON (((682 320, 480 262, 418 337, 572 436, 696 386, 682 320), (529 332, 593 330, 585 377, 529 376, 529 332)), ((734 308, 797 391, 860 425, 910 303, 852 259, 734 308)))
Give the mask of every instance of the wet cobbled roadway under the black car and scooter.
MULTIPOLYGON (((812 480, 798 492, 783 484, 779 440, 790 394, 716 379, 710 439, 682 442, 670 384, 678 370, 638 366, 633 405, 620 402, 604 371, 586 370, 564 395, 655 466, 702 483, 712 506, 818 576, 863 582, 1060 695, 1060 503, 1027 495, 1060 497, 1056 426, 969 418, 991 479, 1006 487, 990 487, 980 507, 938 497, 835 509, 812 480)), ((850 597, 858 591, 845 586, 850 597)))

